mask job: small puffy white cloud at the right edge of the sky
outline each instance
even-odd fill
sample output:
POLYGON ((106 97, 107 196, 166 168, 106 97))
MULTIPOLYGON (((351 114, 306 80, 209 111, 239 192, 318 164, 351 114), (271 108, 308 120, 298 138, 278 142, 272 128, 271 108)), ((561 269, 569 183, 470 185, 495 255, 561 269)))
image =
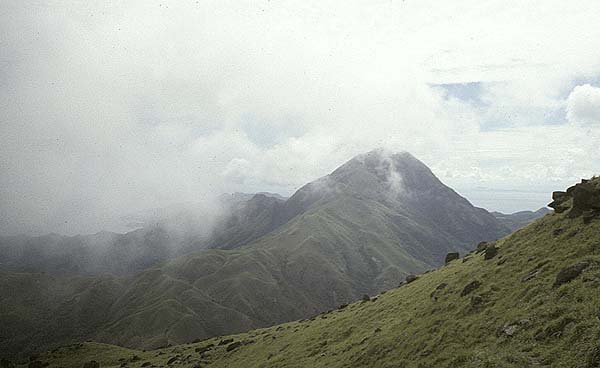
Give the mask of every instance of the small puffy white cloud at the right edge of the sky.
POLYGON ((567 119, 576 124, 600 125, 600 88, 576 86, 567 99, 567 119))

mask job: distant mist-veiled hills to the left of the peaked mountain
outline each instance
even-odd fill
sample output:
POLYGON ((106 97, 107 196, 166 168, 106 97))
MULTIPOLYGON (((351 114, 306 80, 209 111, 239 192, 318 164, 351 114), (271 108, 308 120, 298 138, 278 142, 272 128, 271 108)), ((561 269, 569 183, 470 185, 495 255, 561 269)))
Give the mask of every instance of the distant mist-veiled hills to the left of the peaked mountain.
POLYGON ((0 236, 0 271, 54 275, 133 275, 206 248, 235 248, 268 233, 284 202, 274 193, 222 195, 216 205, 171 206, 131 216, 139 228, 125 234, 0 236))

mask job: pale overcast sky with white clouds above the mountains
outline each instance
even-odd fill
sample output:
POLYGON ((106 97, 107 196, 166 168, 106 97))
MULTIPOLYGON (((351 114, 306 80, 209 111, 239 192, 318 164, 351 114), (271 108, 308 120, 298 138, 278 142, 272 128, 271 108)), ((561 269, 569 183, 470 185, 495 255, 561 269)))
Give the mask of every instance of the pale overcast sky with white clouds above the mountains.
POLYGON ((600 174, 600 2, 0 2, 0 233, 406 150, 474 204, 600 174), (326 4, 325 4, 326 3, 326 4))

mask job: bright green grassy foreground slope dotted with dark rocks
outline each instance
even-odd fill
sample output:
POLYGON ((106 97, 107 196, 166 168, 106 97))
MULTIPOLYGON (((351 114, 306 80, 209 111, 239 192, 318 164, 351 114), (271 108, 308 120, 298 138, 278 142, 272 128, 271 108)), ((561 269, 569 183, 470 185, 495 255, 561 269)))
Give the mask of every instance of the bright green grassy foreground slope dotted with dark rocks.
POLYGON ((409 284, 310 320, 146 352, 75 344, 38 359, 50 367, 598 367, 600 206, 573 211, 575 198, 563 213, 409 284))

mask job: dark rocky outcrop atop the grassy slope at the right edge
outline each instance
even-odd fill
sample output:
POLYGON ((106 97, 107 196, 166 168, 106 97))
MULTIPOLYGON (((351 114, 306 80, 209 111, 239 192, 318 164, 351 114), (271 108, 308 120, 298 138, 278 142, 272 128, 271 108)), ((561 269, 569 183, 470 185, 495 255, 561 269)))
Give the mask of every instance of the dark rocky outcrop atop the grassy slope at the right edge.
POLYGON ((548 207, 556 213, 565 212, 570 218, 582 216, 586 222, 600 217, 600 178, 583 179, 566 192, 552 193, 548 207))

